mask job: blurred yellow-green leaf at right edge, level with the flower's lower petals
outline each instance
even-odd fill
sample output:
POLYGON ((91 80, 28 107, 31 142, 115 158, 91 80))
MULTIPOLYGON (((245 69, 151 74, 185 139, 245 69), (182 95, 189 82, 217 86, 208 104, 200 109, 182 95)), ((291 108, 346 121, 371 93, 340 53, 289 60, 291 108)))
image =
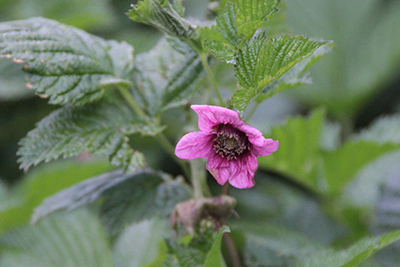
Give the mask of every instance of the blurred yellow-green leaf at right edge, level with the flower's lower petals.
POLYGON ((398 144, 360 140, 347 141, 336 151, 326 152, 323 164, 328 190, 332 194, 339 193, 361 168, 398 149, 398 144))

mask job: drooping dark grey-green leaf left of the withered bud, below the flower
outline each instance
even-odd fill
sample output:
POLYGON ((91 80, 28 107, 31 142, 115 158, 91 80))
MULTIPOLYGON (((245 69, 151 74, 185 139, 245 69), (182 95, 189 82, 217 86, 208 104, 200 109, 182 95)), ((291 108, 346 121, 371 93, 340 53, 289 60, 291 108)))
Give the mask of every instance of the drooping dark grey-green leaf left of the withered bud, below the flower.
POLYGON ((124 174, 106 173, 63 190, 43 201, 35 209, 35 222, 57 210, 72 210, 101 201, 100 214, 112 235, 124 224, 168 215, 178 202, 190 197, 180 180, 161 172, 144 169, 124 174))

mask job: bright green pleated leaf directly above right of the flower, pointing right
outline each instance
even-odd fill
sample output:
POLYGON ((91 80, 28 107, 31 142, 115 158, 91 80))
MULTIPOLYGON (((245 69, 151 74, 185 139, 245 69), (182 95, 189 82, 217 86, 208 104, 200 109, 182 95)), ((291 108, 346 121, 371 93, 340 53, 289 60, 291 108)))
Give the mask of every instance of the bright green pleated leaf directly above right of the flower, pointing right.
MULTIPOLYGON (((320 58, 316 50, 330 44, 301 35, 284 35, 271 40, 267 39, 265 33, 253 37, 243 45, 236 58, 235 75, 241 88, 232 96, 233 105, 243 112, 265 86, 307 58, 315 57, 314 60, 309 59, 304 68, 314 63, 320 58)), ((268 91, 269 96, 278 92, 268 91)))

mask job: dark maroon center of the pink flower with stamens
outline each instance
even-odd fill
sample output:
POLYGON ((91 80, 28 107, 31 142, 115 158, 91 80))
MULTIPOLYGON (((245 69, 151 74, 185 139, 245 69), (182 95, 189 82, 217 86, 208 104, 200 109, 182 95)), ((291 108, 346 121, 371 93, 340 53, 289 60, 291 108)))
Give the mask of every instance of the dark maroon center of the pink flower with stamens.
POLYGON ((237 159, 250 146, 245 133, 230 124, 220 124, 216 128, 217 136, 214 139, 214 151, 228 161, 237 159))

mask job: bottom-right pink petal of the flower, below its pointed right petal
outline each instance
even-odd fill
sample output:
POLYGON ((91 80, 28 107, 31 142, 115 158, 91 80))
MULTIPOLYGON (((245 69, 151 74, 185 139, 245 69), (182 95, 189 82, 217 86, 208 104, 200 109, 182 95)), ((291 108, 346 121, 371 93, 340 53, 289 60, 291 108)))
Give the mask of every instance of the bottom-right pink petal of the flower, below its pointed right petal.
POLYGON ((250 153, 231 164, 229 183, 236 188, 250 188, 256 183, 254 174, 258 168, 257 157, 250 153))

